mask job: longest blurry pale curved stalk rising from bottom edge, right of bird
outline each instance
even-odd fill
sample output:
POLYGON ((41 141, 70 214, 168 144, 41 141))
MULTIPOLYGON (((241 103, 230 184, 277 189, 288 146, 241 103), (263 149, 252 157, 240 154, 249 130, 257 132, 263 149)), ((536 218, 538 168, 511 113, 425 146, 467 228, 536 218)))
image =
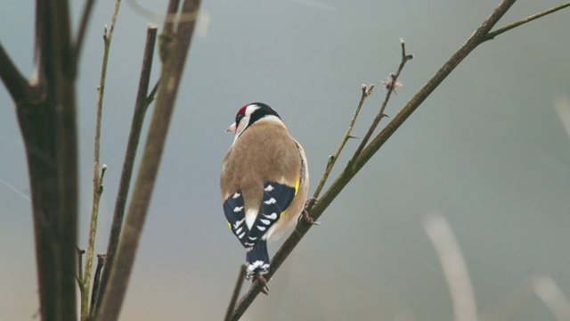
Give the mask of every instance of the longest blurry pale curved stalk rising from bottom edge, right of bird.
POLYGON ((467 265, 452 229, 440 215, 426 218, 424 228, 444 269, 453 301, 454 320, 476 321, 477 309, 473 285, 469 280, 467 265))

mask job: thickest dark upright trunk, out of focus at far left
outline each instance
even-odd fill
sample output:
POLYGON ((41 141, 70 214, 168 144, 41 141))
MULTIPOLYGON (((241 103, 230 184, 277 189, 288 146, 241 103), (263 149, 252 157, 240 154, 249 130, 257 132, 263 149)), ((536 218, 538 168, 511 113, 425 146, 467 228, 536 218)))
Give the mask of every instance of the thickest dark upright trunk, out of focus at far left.
POLYGON ((70 34, 67 1, 37 0, 37 65, 30 81, 37 93, 16 103, 28 160, 43 320, 77 319, 76 66, 70 34))

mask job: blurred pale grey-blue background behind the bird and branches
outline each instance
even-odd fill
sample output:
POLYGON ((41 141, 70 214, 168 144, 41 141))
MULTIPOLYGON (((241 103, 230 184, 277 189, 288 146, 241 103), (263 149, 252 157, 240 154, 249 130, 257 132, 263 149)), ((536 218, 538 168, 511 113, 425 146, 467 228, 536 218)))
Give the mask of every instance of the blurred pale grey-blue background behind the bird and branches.
MULTIPOLYGON (((84 2, 71 3, 77 28, 84 2)), ((82 248, 102 30, 114 3, 95 7, 77 86, 82 248)), ((120 319, 224 317, 245 251, 224 221, 218 179, 233 139, 224 129, 242 105, 268 103, 280 113, 305 147, 312 193, 361 85, 373 83, 354 136, 369 127, 385 94, 380 80, 400 62, 400 37, 415 58, 403 70, 388 115, 498 3, 203 1, 120 319)), ((521 0, 497 27, 560 3, 521 0)), ((167 1, 138 4, 164 12, 167 1)), ((33 2, 3 1, 0 17, 0 41, 30 75, 33 2)), ((554 107, 566 102, 570 108, 569 17, 567 9, 553 13, 470 54, 346 186, 273 277, 270 295, 258 297, 242 319, 451 320, 448 285, 424 228, 433 213, 447 219, 458 239, 478 311, 493 309, 529 276, 550 276, 570 296, 570 141, 554 107)), ((109 169, 97 253, 106 249, 149 22, 161 26, 123 2, 104 98, 101 161, 109 169)), ((153 79, 159 68, 157 57, 153 79)), ((331 181, 357 144, 349 141, 331 181)), ((39 302, 28 169, 4 86, 0 151, 0 320, 30 320, 39 302)), ((270 244, 270 255, 280 243, 270 244)), ((534 299, 514 319, 554 316, 534 299)))

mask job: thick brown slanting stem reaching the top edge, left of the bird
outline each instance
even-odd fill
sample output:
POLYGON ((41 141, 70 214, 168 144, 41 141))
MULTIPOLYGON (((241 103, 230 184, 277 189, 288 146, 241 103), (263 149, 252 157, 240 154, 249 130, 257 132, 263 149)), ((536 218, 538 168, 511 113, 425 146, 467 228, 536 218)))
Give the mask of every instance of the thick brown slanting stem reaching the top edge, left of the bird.
MULTIPOLYGON (((185 0, 183 14, 197 12, 199 0, 185 0)), ((172 22, 167 22, 167 25, 172 22)), ((126 287, 133 269, 134 256, 142 234, 142 227, 149 209, 154 182, 167 138, 168 125, 174 111, 175 99, 190 49, 195 21, 181 21, 167 50, 167 60, 161 73, 159 96, 152 116, 151 127, 142 155, 141 167, 134 185, 133 200, 129 206, 118 244, 117 257, 113 262, 109 285, 104 292, 98 320, 115 321, 125 299, 126 287)), ((167 28, 165 28, 167 29, 167 28)))

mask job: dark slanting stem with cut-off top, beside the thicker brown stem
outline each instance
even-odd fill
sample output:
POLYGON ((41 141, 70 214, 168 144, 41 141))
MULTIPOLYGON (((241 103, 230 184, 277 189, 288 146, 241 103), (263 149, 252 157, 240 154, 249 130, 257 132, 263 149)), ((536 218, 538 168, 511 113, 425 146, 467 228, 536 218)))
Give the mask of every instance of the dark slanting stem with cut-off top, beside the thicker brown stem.
MULTIPOLYGON (((139 79, 139 88, 134 103, 133 120, 131 122, 131 131, 126 144, 125 160, 123 161, 123 169, 121 171, 120 181, 118 183, 117 200, 115 202, 115 210, 113 213, 113 221, 110 227, 109 242, 107 243, 107 267, 111 267, 117 254, 118 240, 120 238, 121 229, 123 228, 123 218, 125 217, 126 199, 128 197, 131 177, 133 176, 134 159, 136 151, 141 139, 142 124, 147 110, 147 92, 149 91, 149 83, 151 79, 152 57, 157 38, 157 27, 149 26, 146 33, 146 45, 142 54, 142 68, 139 79)), ((95 313, 101 305, 104 297, 105 289, 109 283, 110 268, 105 268, 102 273, 100 293, 97 295, 95 302, 95 313)))

